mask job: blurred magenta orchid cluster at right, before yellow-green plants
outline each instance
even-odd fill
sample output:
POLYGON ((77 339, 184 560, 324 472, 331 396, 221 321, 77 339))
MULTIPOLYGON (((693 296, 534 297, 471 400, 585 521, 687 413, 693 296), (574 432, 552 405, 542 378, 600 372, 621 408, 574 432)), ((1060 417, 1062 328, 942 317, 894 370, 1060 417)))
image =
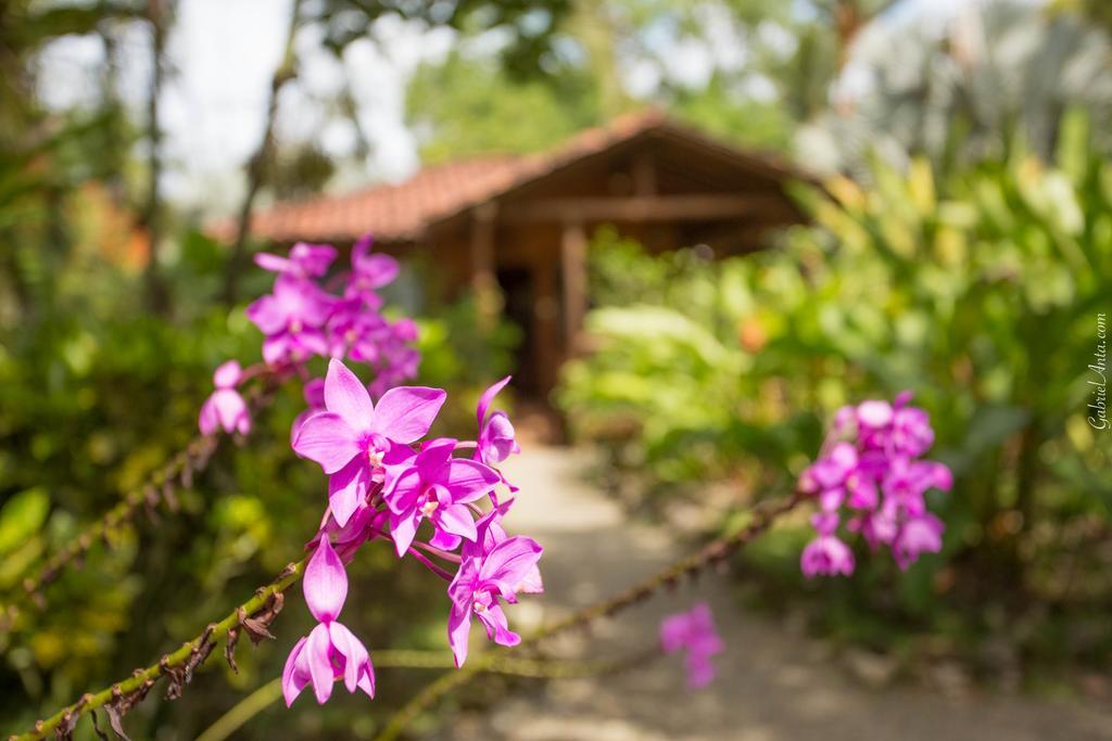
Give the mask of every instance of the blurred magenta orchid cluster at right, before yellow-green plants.
POLYGON ((804 471, 800 489, 815 497, 817 537, 803 550, 804 575, 853 573, 850 547, 837 537, 860 533, 872 550, 885 545, 901 569, 921 553, 942 550, 942 521, 926 509, 929 489, 949 491, 950 469, 921 460, 934 442, 926 412, 909 405, 911 393, 894 403, 871 400, 843 407, 823 445, 823 455, 804 471))

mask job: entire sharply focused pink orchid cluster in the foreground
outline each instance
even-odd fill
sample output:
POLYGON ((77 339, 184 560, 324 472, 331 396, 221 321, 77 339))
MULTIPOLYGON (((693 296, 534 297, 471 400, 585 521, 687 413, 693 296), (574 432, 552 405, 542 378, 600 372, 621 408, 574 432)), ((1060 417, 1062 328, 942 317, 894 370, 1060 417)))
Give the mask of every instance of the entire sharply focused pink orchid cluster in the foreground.
POLYGON ((467 659, 473 618, 500 645, 516 645, 503 604, 523 592, 540 592, 542 548, 532 538, 510 537, 502 519, 513 499, 497 488, 514 487, 495 468, 518 452, 514 427, 504 412, 489 412, 503 379, 479 399, 474 442, 424 438, 446 393, 397 387, 374 403, 367 388, 332 359, 322 387, 324 409, 296 424, 294 451, 320 464, 328 480, 328 508, 314 538, 305 572, 305 599, 318 625, 289 654, 282 673, 287 704, 312 684, 318 702, 342 678, 348 691, 374 697, 375 674, 363 643, 339 623, 347 595, 344 563, 370 540, 394 544, 448 583, 451 607, 448 644, 456 665, 467 659), (484 498, 490 507, 484 510, 484 498), (421 525, 428 525, 421 537, 421 525), (445 564, 453 564, 451 573, 445 564))

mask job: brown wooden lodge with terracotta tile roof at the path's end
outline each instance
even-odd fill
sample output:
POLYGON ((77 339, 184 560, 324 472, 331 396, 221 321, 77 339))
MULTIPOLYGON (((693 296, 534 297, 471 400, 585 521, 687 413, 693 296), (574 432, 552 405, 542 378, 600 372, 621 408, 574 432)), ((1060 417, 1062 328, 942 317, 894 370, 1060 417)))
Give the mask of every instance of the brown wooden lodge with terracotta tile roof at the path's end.
POLYGON ((751 251, 770 228, 801 220, 784 190, 796 177, 649 111, 543 153, 449 162, 399 184, 279 202, 255 214, 251 232, 341 247, 371 232, 376 250, 431 266, 449 298, 497 286, 506 316, 524 329, 517 383, 546 394, 579 347, 597 227, 613 224, 654 252, 751 251))

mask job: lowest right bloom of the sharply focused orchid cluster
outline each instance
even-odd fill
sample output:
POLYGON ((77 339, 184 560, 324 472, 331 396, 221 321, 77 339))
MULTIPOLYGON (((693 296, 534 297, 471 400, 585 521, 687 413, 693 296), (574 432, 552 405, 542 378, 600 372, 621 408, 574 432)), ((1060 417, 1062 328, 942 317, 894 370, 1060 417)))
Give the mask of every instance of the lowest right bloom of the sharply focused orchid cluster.
POLYGON ((532 538, 507 538, 489 552, 465 558, 456 578, 448 585, 451 612, 448 615, 448 644, 451 645, 456 665, 467 660, 468 633, 471 615, 486 628, 487 638, 499 645, 517 645, 522 637, 509 630, 506 613, 499 600, 513 604, 544 549, 532 538))

